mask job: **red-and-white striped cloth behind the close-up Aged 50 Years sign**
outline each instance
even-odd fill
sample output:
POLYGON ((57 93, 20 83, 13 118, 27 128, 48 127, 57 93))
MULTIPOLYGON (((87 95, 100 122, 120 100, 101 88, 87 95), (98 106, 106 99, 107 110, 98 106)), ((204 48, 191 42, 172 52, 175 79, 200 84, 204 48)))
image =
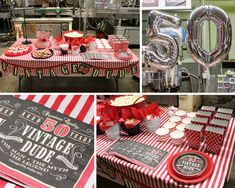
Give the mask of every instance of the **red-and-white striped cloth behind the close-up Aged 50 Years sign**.
MULTIPOLYGON (((94 96, 93 95, 17 95, 17 98, 30 100, 48 108, 73 117, 79 121, 94 125, 94 96)), ((95 170, 94 155, 87 169, 88 176, 84 177, 84 188, 94 186, 95 170)), ((10 182, 0 179, 0 188, 20 188, 10 182)))

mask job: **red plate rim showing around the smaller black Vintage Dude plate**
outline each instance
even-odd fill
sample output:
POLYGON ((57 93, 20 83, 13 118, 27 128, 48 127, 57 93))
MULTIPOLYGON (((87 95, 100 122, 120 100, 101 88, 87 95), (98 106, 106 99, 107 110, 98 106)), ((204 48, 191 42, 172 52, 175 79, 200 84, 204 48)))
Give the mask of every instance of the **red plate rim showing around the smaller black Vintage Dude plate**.
POLYGON ((178 182, 185 183, 185 184, 196 184, 201 181, 204 181, 205 179, 207 179, 208 177, 210 177, 212 175, 213 170, 214 170, 214 164, 212 162, 212 159, 208 155, 206 155, 205 153, 198 152, 195 150, 189 150, 189 151, 183 151, 183 152, 177 153, 176 155, 171 156, 168 160, 167 170, 168 170, 170 176, 178 182), (174 168, 174 161, 179 156, 182 156, 185 154, 193 154, 193 155, 196 154, 198 156, 203 157, 206 161, 206 164, 207 164, 205 170, 198 175, 191 176, 190 179, 189 179, 189 176, 186 177, 184 175, 179 175, 179 173, 177 173, 174 168))

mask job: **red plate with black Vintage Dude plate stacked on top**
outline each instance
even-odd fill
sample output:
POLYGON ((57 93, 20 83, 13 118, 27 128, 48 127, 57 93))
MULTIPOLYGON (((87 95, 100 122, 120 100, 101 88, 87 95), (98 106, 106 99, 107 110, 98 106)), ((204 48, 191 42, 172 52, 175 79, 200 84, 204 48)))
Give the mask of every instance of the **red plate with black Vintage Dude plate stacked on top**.
POLYGON ((178 182, 196 184, 212 175, 214 164, 205 153, 190 150, 171 156, 167 170, 170 176, 178 182))

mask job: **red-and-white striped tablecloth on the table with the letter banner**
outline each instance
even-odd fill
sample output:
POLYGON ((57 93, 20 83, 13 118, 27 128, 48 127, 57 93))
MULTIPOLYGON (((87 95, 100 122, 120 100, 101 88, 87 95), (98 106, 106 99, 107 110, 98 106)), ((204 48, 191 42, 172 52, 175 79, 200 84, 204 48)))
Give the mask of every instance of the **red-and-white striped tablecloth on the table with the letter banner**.
MULTIPOLYGON (((15 44, 20 44, 24 39, 18 39, 15 44)), ((33 49, 35 49, 35 39, 31 39, 33 49)), ((15 45, 14 44, 14 45, 15 45)), ((17 57, 8 57, 4 54, 0 56, 0 62, 4 62, 7 67, 5 72, 12 73, 14 71, 14 67, 18 67, 18 74, 25 75, 25 69, 30 69, 31 75, 37 76, 37 70, 43 70, 43 76, 50 75, 49 70, 53 68, 56 72, 57 76, 65 76, 61 72, 61 66, 66 65, 69 73, 72 73, 72 67, 70 64, 79 64, 79 63, 86 63, 91 67, 100 69, 100 75, 103 76, 105 74, 102 70, 113 70, 113 75, 118 74, 119 69, 127 69, 130 72, 130 67, 137 65, 137 73, 139 72, 139 59, 138 57, 132 52, 132 59, 130 61, 122 61, 115 58, 113 52, 100 52, 100 51, 88 51, 87 53, 104 53, 109 54, 112 59, 107 60, 84 60, 81 55, 74 56, 71 53, 67 55, 58 55, 58 50, 54 51, 54 55, 48 59, 35 59, 31 56, 31 53, 26 55, 17 56, 17 57)), ((3 68, 2 68, 3 69, 3 68)), ((3 69, 4 71, 4 69, 3 69)), ((127 73, 129 73, 127 71, 127 73)), ((91 75, 92 70, 87 75, 91 75)), ((78 76, 78 74, 69 74, 69 76, 78 76)))

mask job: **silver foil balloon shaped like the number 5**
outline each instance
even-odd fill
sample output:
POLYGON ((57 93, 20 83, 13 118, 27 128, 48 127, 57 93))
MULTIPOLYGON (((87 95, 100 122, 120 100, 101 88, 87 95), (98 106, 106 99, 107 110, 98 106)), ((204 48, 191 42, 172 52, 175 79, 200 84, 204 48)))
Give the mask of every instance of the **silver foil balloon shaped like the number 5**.
POLYGON ((153 67, 169 69, 178 60, 179 44, 172 36, 161 32, 162 25, 177 29, 181 26, 181 20, 159 11, 151 11, 148 15, 147 26, 149 43, 145 54, 153 67))

